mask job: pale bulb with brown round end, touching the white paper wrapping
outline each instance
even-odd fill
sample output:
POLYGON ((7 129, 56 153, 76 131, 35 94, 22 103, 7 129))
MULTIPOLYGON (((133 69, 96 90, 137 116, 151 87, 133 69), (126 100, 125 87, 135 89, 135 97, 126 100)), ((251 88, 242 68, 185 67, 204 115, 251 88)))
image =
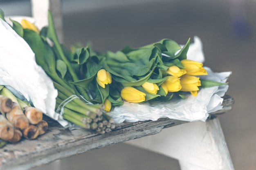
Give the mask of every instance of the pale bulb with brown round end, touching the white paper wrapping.
POLYGON ((31 124, 38 124, 43 120, 43 112, 35 107, 27 106, 24 108, 24 113, 31 124))

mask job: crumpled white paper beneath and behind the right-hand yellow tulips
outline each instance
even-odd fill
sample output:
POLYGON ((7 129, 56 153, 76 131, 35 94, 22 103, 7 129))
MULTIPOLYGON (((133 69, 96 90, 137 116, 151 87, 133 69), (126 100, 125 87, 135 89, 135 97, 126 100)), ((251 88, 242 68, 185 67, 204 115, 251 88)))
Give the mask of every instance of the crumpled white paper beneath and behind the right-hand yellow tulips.
MULTIPOLYGON (((182 46, 182 45, 181 45, 182 46)), ((204 62, 202 41, 195 36, 194 43, 189 46, 187 59, 204 62)), ((208 75, 201 76, 204 79, 225 83, 231 72, 212 72, 210 68, 204 67, 208 75)), ((115 107, 109 115, 114 118, 115 123, 137 122, 144 120, 157 120, 159 118, 170 118, 184 121, 205 121, 209 113, 222 109, 221 98, 227 92, 228 85, 220 85, 201 89, 197 96, 188 95, 185 99, 172 99, 168 102, 147 101, 143 103, 124 102, 124 105, 115 107)))

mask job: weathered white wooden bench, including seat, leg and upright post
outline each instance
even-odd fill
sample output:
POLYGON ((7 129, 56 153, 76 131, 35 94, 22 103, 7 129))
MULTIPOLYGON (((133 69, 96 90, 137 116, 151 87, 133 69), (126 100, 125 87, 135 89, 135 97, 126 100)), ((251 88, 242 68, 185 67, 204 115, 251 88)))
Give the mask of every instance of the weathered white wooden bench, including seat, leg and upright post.
MULTIPOLYGON (((58 37, 62 41, 61 0, 31 0, 32 14, 40 26, 47 25, 50 7, 58 37)), ((70 131, 47 117, 49 130, 36 140, 22 140, 0 149, 0 170, 27 170, 52 161, 126 142, 178 159, 182 170, 233 170, 218 114, 231 110, 234 99, 225 95, 223 109, 211 113, 206 122, 169 118, 124 122, 110 133, 85 129, 70 131)))

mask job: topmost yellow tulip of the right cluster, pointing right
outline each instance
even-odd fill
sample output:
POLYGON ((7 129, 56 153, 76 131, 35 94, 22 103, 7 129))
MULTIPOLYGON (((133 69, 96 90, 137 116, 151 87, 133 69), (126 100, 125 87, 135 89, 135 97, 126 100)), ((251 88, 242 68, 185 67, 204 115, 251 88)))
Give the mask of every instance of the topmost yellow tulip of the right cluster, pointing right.
POLYGON ((203 68, 203 64, 200 62, 187 59, 184 59, 180 62, 185 67, 184 70, 186 70, 186 74, 188 75, 207 75, 207 71, 205 70, 205 68, 203 68))

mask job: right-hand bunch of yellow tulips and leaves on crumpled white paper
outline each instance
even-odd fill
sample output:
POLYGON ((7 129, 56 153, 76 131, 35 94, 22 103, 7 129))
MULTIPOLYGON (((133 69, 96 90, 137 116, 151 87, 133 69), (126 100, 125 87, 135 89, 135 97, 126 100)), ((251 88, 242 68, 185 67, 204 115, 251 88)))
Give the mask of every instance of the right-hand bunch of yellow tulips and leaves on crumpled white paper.
MULTIPOLYGON (((127 102, 167 101, 173 95, 184 98, 184 93, 190 92, 196 96, 200 88, 225 84, 198 77, 207 75, 207 71, 202 63, 186 59, 189 42, 181 48, 175 41, 163 39, 141 48, 127 46, 99 54, 99 65, 112 77, 114 98, 127 102)), ((108 100, 113 101, 111 93, 108 100)))

